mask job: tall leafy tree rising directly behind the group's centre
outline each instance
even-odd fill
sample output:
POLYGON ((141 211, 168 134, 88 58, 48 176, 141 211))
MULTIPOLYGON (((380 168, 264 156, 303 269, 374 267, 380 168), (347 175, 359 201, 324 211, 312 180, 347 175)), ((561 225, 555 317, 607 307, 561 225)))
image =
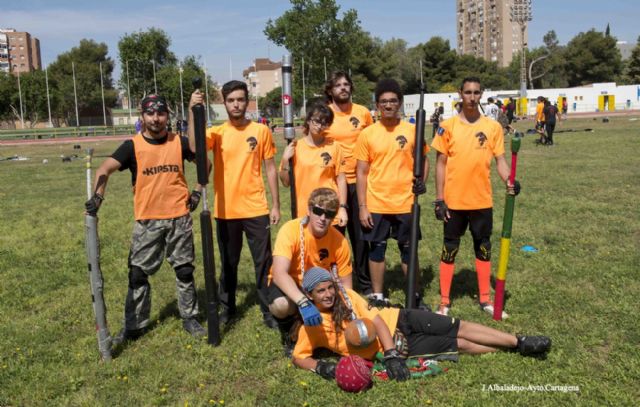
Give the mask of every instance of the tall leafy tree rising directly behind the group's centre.
MULTIPOLYGON (((311 92, 322 93, 325 62, 327 73, 350 68, 360 71, 355 56, 371 44, 368 34, 360 28, 355 10, 347 10, 338 18, 340 7, 335 0, 291 0, 291 5, 282 16, 267 21, 264 34, 291 52, 294 78, 302 78, 302 58, 311 92)), ((294 80, 294 88, 300 87, 301 80, 294 80)))

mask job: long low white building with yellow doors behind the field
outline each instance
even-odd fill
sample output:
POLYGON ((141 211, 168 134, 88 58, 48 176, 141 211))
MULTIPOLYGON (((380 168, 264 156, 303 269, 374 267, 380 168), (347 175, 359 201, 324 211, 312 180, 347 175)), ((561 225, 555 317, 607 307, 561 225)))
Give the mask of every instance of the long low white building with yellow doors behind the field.
MULTIPOLYGON (((517 90, 485 90, 482 94, 482 104, 487 103, 489 97, 503 103, 510 98, 518 98, 517 90)), ((562 110, 562 98, 567 100, 567 112, 589 113, 599 111, 640 110, 640 84, 617 86, 615 82, 594 83, 589 86, 562 89, 530 89, 527 90, 527 115, 535 113, 538 96, 544 96, 551 103, 558 103, 562 110)), ((458 93, 429 93, 424 95, 424 109, 427 118, 438 107, 444 107, 444 116, 454 114, 454 105, 459 100, 458 93)), ((420 95, 406 95, 404 97, 404 112, 412 116, 420 104, 420 95)))

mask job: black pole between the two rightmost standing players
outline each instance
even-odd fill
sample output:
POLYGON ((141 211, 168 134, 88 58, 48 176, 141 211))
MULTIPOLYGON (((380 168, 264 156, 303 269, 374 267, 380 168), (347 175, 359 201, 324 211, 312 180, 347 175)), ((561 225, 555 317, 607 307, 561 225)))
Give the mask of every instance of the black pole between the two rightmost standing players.
MULTIPOLYGON (((413 151, 413 177, 422 179, 424 176, 424 125, 427 114, 423 108, 424 86, 420 86, 420 105, 416 111, 416 138, 413 151)), ((420 203, 419 195, 414 194, 411 206, 411 232, 409 235, 409 265, 407 271, 407 298, 406 308, 416 307, 416 281, 420 271, 418 264, 418 231, 420 230, 420 203)))

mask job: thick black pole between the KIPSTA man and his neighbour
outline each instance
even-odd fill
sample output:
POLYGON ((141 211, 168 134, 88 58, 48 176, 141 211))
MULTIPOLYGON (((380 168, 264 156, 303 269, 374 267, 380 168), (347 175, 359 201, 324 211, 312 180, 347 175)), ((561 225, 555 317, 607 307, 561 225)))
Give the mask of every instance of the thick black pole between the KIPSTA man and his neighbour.
MULTIPOLYGON (((193 80, 193 87, 199 89, 202 80, 193 80)), ((204 286, 207 296, 207 342, 213 346, 220 345, 220 323, 218 321, 218 287, 216 286, 216 264, 213 254, 213 227, 211 212, 207 202, 207 184, 209 183, 209 169, 207 160, 207 145, 205 140, 206 119, 202 104, 191 108, 193 112, 193 131, 196 139, 196 167, 198 170, 198 184, 202 185, 202 211, 200 212, 200 230, 202 234, 202 262, 204 270, 204 286)))

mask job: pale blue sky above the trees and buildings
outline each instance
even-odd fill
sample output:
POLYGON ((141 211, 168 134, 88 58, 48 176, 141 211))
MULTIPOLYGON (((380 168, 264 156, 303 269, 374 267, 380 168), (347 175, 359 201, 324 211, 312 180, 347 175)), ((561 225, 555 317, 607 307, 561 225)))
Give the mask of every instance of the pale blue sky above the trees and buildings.
MULTIPOLYGON (((362 27, 382 39, 405 39, 410 46, 439 35, 456 46, 455 0, 337 0, 341 10, 356 9, 362 27)), ((105 42, 117 62, 118 40, 126 33, 158 27, 172 39, 179 57, 197 55, 214 80, 240 78, 255 57, 281 60, 285 50, 263 34, 266 21, 290 8, 288 0, 3 0, 0 27, 28 31, 40 39, 45 65, 78 45, 80 39, 105 42)), ((529 45, 542 44, 555 30, 560 43, 591 28, 635 43, 638 0, 533 0, 529 45)), ((295 57, 295 56, 294 56, 295 57)), ((116 76, 119 69, 116 68, 116 76)))

